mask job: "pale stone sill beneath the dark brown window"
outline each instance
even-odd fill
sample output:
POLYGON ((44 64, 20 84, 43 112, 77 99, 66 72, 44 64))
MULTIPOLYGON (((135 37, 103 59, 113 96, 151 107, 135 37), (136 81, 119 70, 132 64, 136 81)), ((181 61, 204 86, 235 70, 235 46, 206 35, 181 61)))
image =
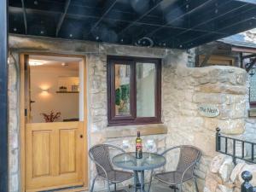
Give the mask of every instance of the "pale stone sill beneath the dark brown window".
POLYGON ((136 137, 137 131, 142 136, 159 135, 166 134, 167 127, 163 124, 111 126, 105 130, 105 135, 107 138, 136 137))

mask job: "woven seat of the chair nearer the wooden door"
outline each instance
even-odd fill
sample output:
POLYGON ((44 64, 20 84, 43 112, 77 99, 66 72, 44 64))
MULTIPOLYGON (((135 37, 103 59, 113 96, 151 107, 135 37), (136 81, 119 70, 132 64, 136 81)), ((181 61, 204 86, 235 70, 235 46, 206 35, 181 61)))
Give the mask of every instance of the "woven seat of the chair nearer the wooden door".
MULTIPOLYGON (((105 174, 101 174, 99 176, 104 179, 107 179, 105 174)), ((123 172, 123 171, 118 171, 118 170, 113 170, 113 171, 108 172, 108 180, 111 183, 120 183, 120 182, 130 179, 131 177, 133 177, 132 172, 123 172)))

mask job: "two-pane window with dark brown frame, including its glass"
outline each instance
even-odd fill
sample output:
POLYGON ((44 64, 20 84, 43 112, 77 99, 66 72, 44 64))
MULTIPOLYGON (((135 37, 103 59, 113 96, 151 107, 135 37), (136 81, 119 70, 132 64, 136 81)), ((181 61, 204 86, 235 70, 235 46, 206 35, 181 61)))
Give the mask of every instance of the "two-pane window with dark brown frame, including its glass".
POLYGON ((108 57, 108 124, 160 123, 160 59, 108 57))

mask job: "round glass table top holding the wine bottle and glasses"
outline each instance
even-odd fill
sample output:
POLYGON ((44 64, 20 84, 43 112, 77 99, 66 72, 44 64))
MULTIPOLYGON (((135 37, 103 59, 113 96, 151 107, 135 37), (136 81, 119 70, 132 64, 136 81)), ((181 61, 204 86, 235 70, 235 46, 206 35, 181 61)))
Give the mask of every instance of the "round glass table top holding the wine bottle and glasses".
POLYGON ((113 157, 113 165, 119 168, 143 171, 153 170, 166 165, 166 158, 160 154, 143 152, 143 158, 137 159, 135 153, 123 153, 113 157))

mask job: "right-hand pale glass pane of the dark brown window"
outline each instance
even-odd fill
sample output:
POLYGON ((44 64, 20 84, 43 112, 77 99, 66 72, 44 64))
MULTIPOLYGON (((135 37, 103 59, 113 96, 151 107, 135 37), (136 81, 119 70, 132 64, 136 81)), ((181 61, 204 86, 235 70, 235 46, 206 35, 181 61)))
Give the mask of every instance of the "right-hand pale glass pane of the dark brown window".
POLYGON ((137 62, 137 117, 154 117, 155 64, 137 62))

